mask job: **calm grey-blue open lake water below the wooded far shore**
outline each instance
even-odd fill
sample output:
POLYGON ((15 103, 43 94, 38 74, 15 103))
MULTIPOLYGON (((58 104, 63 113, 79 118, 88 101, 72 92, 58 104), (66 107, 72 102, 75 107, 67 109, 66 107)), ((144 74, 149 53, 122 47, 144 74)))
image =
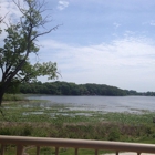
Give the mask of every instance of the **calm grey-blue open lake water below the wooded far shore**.
POLYGON ((48 100, 38 106, 65 105, 75 111, 131 112, 155 111, 154 96, 51 96, 31 95, 29 99, 48 100))

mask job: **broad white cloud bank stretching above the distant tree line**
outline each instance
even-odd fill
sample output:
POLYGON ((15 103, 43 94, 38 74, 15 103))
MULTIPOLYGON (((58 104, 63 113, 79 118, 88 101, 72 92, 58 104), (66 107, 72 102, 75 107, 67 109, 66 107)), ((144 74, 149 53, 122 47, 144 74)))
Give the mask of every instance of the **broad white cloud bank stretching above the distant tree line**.
POLYGON ((41 43, 45 46, 41 49, 41 61, 58 62, 63 78, 60 80, 105 83, 123 89, 140 86, 142 91, 146 91, 148 83, 155 86, 155 45, 147 39, 130 38, 90 46, 69 45, 53 40, 41 43), (144 82, 147 83, 145 87, 144 82))

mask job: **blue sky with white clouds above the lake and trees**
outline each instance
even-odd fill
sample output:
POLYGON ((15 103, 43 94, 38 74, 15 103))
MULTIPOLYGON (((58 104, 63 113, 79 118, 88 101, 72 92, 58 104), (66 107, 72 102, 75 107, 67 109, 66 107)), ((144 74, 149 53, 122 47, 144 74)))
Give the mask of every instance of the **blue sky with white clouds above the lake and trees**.
MULTIPOLYGON (((155 92, 155 0, 46 2, 52 21, 45 30, 59 28, 38 39, 40 52, 31 55, 32 63, 56 62, 59 81, 155 92)), ((19 16, 11 0, 0 6, 1 14, 9 10, 6 20, 19 16)))

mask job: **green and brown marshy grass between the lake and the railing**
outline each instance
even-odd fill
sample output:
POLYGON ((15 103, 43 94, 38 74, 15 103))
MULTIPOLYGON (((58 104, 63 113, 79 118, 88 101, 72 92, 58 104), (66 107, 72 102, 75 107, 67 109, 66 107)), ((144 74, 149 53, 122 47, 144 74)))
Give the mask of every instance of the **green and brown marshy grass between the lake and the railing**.
MULTIPOLYGON (((131 114, 70 111, 64 105, 42 106, 48 104, 46 101, 22 100, 9 103, 0 107, 4 114, 4 117, 0 115, 0 135, 155 143, 155 112, 131 114)), ((7 149, 8 154, 10 149, 13 153, 12 146, 7 149)), ((28 152, 33 155, 35 148, 29 148, 28 152)), ((61 148, 60 155, 73 152, 71 148, 61 148)), ((53 153, 51 147, 41 149, 41 155, 53 153)), ((91 155, 94 151, 80 149, 79 154, 91 155)))

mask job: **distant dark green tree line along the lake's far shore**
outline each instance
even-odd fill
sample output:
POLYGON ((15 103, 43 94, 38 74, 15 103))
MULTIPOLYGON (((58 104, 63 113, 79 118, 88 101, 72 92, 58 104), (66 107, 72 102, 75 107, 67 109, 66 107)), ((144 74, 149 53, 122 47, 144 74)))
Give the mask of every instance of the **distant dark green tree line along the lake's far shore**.
POLYGON ((122 90, 116 86, 106 84, 75 84, 71 82, 32 82, 22 83, 19 92, 23 94, 50 94, 50 95, 107 95, 107 96, 125 96, 125 95, 155 95, 154 92, 138 93, 133 90, 122 90))

